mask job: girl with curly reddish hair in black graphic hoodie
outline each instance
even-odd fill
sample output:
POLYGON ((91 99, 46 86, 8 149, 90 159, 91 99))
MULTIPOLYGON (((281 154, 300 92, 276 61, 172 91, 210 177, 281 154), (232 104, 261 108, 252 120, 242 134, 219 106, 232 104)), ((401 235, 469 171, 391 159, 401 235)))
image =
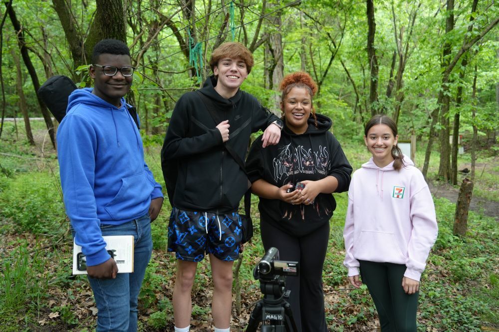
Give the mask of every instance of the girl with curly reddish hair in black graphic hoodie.
POLYGON ((302 72, 290 74, 280 89, 281 139, 262 149, 257 138, 246 166, 251 190, 260 197, 265 250, 276 247, 280 259, 300 265, 299 276, 286 280, 298 330, 326 332, 322 269, 329 219, 336 208, 331 194, 348 190, 352 167, 329 131, 331 120, 313 109, 317 87, 312 78, 302 72))

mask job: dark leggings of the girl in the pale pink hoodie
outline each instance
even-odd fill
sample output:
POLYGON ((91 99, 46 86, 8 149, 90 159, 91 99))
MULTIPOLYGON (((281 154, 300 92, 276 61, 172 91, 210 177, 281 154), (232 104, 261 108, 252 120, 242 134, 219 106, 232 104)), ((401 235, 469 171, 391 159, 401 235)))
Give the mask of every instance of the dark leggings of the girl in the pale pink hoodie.
POLYGON ((406 266, 359 260, 362 282, 373 298, 382 332, 416 332, 419 292, 402 287, 406 266))

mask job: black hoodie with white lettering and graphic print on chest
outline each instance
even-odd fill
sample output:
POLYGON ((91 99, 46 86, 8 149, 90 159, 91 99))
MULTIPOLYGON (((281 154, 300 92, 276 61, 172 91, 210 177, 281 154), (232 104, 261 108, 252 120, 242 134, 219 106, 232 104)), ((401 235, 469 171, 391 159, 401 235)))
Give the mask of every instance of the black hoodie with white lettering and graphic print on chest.
MULTIPOLYGON (((261 136, 251 145, 246 168, 251 183, 263 179, 282 187, 296 185, 299 181, 320 180, 334 176, 338 180, 336 193, 348 190, 352 166, 341 149, 340 143, 329 131, 331 120, 317 114, 308 119, 308 128, 303 134, 295 134, 284 124, 277 145, 262 149, 261 136)), ((319 194, 313 204, 291 205, 281 200, 260 198, 258 210, 260 222, 273 226, 294 236, 312 232, 328 222, 336 208, 332 194, 319 194)))

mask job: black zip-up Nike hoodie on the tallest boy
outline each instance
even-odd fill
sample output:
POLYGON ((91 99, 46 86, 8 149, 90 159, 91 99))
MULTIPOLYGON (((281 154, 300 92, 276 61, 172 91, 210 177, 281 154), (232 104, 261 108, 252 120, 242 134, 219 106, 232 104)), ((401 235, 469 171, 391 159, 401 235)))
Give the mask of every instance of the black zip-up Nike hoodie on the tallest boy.
POLYGON ((198 92, 184 94, 175 105, 161 150, 165 164, 178 162, 173 206, 182 210, 236 211, 249 187, 248 177, 224 149, 216 126, 229 120, 226 144, 245 160, 251 133, 278 119, 241 89, 225 99, 215 91, 216 85, 217 79, 211 76, 199 92, 211 100, 218 119, 213 119, 198 92))

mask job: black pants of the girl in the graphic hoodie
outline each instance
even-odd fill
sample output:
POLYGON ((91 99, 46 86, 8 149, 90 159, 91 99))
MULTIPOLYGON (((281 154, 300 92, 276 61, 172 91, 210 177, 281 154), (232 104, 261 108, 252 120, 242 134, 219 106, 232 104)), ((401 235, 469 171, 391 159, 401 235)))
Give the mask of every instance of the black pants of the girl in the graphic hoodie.
POLYGON ((289 304, 300 332, 327 332, 322 292, 322 270, 329 239, 329 222, 313 232, 296 237, 260 222, 261 240, 265 251, 279 249, 279 259, 299 262, 299 275, 286 277, 291 291, 289 304))

